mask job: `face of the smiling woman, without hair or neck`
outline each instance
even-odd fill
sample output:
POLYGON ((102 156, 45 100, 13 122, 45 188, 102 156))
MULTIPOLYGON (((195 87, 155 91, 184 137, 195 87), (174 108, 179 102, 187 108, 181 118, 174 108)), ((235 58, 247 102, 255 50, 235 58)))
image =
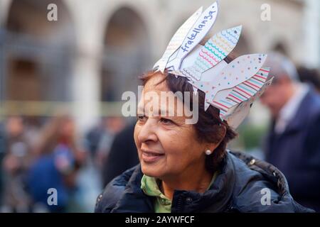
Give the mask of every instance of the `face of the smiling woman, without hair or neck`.
MULTIPOLYGON (((205 150, 210 148, 197 140, 193 125, 185 123, 185 116, 176 116, 177 102, 174 105, 161 104, 160 92, 169 92, 166 82, 156 85, 164 75, 155 74, 144 86, 144 96, 138 105, 138 121, 134 129, 134 140, 142 165, 142 172, 150 177, 164 179, 181 173, 204 168, 205 150), (159 112, 174 112, 175 116, 159 114, 154 116, 147 106, 147 92, 159 96, 159 112), (144 114, 142 114, 144 111, 144 114)), ((173 94, 169 94, 169 96, 173 94)), ((158 111, 158 110, 157 110, 158 111)))

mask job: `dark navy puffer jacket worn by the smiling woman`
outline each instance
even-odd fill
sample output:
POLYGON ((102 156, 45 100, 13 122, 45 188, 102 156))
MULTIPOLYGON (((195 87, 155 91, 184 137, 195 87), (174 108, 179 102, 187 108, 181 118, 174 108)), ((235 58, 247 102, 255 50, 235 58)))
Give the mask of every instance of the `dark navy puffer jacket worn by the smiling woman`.
MULTIPOLYGON (((284 175, 267 162, 228 151, 219 172, 203 194, 176 191, 171 212, 313 212, 292 199, 284 175)), ((142 176, 137 165, 113 179, 98 196, 95 212, 154 212, 154 197, 140 189, 142 176)))

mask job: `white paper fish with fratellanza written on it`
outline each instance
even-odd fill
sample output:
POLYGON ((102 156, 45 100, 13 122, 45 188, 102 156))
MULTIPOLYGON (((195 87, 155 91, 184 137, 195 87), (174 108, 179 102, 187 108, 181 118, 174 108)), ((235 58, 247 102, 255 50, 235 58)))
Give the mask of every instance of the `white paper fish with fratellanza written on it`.
POLYGON ((177 55, 174 59, 170 59, 169 63, 166 65, 166 68, 171 68, 172 70, 179 70, 181 66, 181 62, 186 55, 188 55, 193 48, 201 42, 201 40, 206 36, 206 34, 210 31, 213 24, 215 23, 215 19, 218 16, 218 3, 215 2, 211 6, 204 11, 196 24, 191 28, 188 35, 186 35, 185 40, 181 47, 178 49, 177 55))

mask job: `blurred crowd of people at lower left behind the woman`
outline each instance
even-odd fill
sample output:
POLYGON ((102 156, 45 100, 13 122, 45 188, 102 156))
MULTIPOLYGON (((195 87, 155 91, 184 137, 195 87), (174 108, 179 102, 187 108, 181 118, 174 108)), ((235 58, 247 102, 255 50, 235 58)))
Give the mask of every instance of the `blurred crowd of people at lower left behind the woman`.
MULTIPOLYGON (((124 126, 123 118, 103 118, 99 126, 79 135, 68 115, 6 118, 0 124, 1 212, 92 211, 80 206, 79 177, 93 167, 94 177, 103 182, 102 167, 113 137, 124 126), (55 206, 48 204, 48 189, 56 189, 55 206)), ((99 192, 102 184, 95 187, 99 192)))

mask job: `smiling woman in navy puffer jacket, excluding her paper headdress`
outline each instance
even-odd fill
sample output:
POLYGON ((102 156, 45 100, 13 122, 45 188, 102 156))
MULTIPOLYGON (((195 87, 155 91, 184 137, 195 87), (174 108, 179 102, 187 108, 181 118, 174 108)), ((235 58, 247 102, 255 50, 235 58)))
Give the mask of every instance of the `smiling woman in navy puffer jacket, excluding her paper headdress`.
MULTIPOLYGON (((193 89, 173 74, 156 72, 143 80, 144 93, 193 89)), ((199 104, 202 100, 203 93, 199 104)), ((286 179, 275 167, 225 150, 236 133, 220 120, 218 109, 203 111, 199 106, 198 123, 186 125, 185 120, 139 116, 134 140, 141 165, 107 185, 96 212, 309 211, 292 199, 286 179), (269 193, 268 205, 263 196, 269 193)))

